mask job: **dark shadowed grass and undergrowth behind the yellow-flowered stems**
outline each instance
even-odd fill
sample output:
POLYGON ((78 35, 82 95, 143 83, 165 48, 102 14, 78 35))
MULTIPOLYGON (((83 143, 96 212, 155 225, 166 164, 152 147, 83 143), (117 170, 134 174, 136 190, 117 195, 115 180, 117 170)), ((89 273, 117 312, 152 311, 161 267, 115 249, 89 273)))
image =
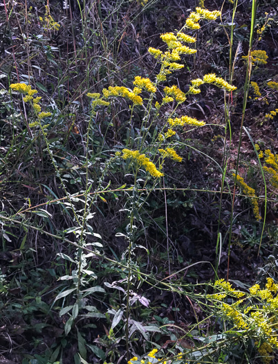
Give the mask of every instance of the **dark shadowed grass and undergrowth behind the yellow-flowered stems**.
MULTIPOLYGON (((28 80, 33 88, 38 89, 42 103, 54 115, 48 127, 48 140, 51 141, 59 173, 68 193, 82 193, 86 183, 83 136, 89 119, 89 98, 86 93, 101 92, 109 85, 131 87, 133 78, 137 75, 154 77, 159 68, 156 60, 147 53, 148 47, 162 46, 160 34, 181 28, 189 12, 198 3, 158 0, 149 1, 149 5, 142 8, 135 0, 84 3, 71 0, 71 7, 64 10, 62 1, 50 0, 50 13, 61 25, 59 31, 43 29, 39 17, 44 17, 45 5, 44 1, 7 1, 7 21, 3 3, 1 4, 1 214, 13 216, 19 223, 7 223, 0 218, 0 363, 47 364, 60 360, 61 356, 64 364, 73 363, 74 356, 75 363, 78 363, 76 353, 80 352, 82 340, 91 345, 91 349, 86 348, 88 363, 103 363, 104 355, 107 361, 110 357, 115 363, 126 363, 124 341, 118 340, 122 338, 120 330, 113 338, 109 338, 111 316, 106 312, 109 309, 117 311, 122 300, 116 290, 106 288, 105 294, 86 297, 87 304, 95 306, 98 315, 91 318, 81 316, 68 336, 65 336, 66 318, 64 315, 59 316, 64 302, 60 300, 54 303, 54 300, 67 285, 65 281, 57 279, 71 274, 73 268, 70 261, 65 261, 57 253, 73 257, 75 248, 66 241, 41 234, 39 229, 77 241, 74 234, 65 233, 66 229, 74 226, 74 218, 58 203, 44 206, 49 216, 31 211, 15 215, 30 206, 64 198, 64 191, 50 162, 44 139, 28 135, 21 98, 15 95, 11 97, 8 90, 11 83, 28 80)), ((222 2, 205 1, 205 6, 209 10, 220 10, 222 2)), ((277 3, 261 1, 257 11, 258 24, 263 24, 265 12, 270 13, 274 21, 258 45, 259 49, 268 54, 268 64, 256 69, 252 75, 252 80, 259 84, 266 80, 278 81, 277 3)), ((185 68, 169 76, 165 85, 178 85, 186 91, 189 80, 202 77, 205 73, 212 72, 229 78, 230 46, 224 28, 230 34, 231 16, 232 6, 227 2, 222 10, 223 24, 219 20, 203 24, 197 33, 196 57, 186 58, 185 68)), ((245 63, 241 56, 248 51, 250 32, 249 1, 239 1, 234 22, 233 51, 237 46, 240 49, 233 80, 233 85, 238 89, 233 95, 230 110, 232 139, 228 145, 228 180, 231 185, 230 171, 234 170, 237 160, 245 80, 245 63)), ((136 241, 138 245, 147 248, 148 253, 138 248, 137 264, 142 272, 154 272, 159 279, 192 263, 206 261, 214 265, 216 259, 221 174, 216 170, 212 159, 220 165, 223 163, 224 94, 215 87, 201 86, 201 90, 200 95, 189 96, 188 103, 181 112, 219 127, 207 125, 206 128, 180 135, 185 144, 188 144, 180 152, 183 163, 166 164, 164 178, 165 185, 176 188, 176 191, 153 191, 148 205, 144 205, 140 211, 141 227, 137 231, 136 241), (218 137, 214 138, 215 136, 218 137), (186 187, 189 187, 188 191, 178 190, 186 187)), ((265 120, 264 115, 277 107, 277 92, 268 94, 269 105, 254 100, 252 89, 250 96, 245 113, 245 127, 263 150, 275 152, 277 116, 265 120)), ((133 121, 134 133, 140 123, 140 116, 138 111, 133 121)), ((128 105, 124 101, 114 104, 110 113, 99 110, 96 114, 90 135, 91 191, 98 185, 103 161, 109 158, 115 148, 124 145, 127 123, 128 105)), ((257 191, 258 196, 263 195, 263 182, 248 135, 243 135, 240 157, 239 173, 257 191)), ((128 171, 120 172, 122 164, 117 163, 111 166, 103 187, 109 181, 110 189, 125 183, 127 187, 132 184, 128 171)), ((163 187, 163 182, 160 187, 163 187)), ((236 196, 234 203, 236 217, 232 227, 229 277, 243 284, 250 285, 258 277, 277 274, 277 192, 268 186, 268 193, 271 201, 266 211, 266 227, 260 251, 262 223, 254 219, 248 199, 236 196)), ((95 216, 91 220, 91 227, 102 236, 104 256, 118 261, 121 261, 127 250, 127 241, 116 236, 116 233, 124 233, 129 223, 123 210, 127 196, 129 192, 124 191, 106 194, 103 196, 105 200, 95 200, 92 211, 95 216)), ((228 194, 224 194, 221 203, 220 231, 223 246, 218 274, 219 277, 226 277, 232 200, 228 194)), ((260 202, 259 205, 261 214, 264 214, 263 203, 260 202)), ((77 201, 76 209, 82 208, 82 201, 77 201)), ((95 239, 91 242, 94 241, 95 239)), ((87 242, 90 243, 90 240, 87 242)), ((89 266, 97 276, 94 284, 104 288, 104 282, 111 284, 126 276, 122 268, 99 257, 93 257, 89 266)), ((213 278, 214 270, 209 263, 198 263, 174 277, 189 284, 213 278)), ((151 289, 145 283, 139 286, 138 294, 144 294, 150 303, 148 307, 139 304, 134 306, 132 314, 138 322, 158 325, 174 322, 178 327, 186 329, 196 320, 201 321, 205 317, 205 313, 189 299, 181 300, 174 293, 151 289)), ((203 327, 204 334, 206 331, 207 327, 203 327)), ((176 340, 179 335, 178 330, 172 333, 165 331, 165 334, 157 336, 156 343, 167 348, 171 340, 176 340)), ((151 349, 139 333, 131 341, 138 352, 140 349, 151 349)), ((186 347, 192 343, 183 345, 186 347)))

